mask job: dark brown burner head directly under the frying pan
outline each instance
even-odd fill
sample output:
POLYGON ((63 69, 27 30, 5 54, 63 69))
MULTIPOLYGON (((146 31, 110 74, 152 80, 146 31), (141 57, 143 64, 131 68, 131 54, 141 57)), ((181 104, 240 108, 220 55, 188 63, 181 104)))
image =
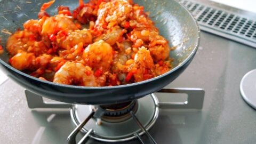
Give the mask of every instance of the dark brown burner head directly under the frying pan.
POLYGON ((122 122, 131 118, 130 112, 136 113, 138 109, 137 100, 117 103, 113 105, 98 105, 93 106, 102 111, 103 115, 100 117, 103 121, 107 122, 122 122))

